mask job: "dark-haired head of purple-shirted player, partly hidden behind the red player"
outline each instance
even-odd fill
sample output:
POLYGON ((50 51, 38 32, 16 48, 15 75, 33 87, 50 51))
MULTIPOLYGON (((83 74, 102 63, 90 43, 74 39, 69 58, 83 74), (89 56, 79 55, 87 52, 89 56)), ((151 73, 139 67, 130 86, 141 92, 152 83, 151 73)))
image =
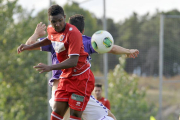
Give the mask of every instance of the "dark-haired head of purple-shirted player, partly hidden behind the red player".
POLYGON ((76 26, 76 28, 83 34, 84 33, 84 16, 75 14, 69 18, 69 23, 76 26))

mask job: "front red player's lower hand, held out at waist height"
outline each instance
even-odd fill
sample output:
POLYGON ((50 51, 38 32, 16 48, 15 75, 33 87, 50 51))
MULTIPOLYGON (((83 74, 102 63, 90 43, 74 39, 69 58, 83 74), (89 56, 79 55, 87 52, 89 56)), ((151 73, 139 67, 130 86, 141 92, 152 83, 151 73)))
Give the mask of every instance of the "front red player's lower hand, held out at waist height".
POLYGON ((43 64, 43 63, 39 63, 38 65, 34 66, 33 68, 35 68, 37 71, 39 71, 39 73, 51 71, 51 67, 46 64, 43 64))

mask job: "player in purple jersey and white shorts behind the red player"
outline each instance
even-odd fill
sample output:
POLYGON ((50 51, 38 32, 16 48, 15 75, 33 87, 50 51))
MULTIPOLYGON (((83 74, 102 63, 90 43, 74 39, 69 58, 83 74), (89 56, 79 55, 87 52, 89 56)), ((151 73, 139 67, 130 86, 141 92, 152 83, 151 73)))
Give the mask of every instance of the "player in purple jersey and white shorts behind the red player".
MULTIPOLYGON (((82 34, 84 33, 84 17, 82 15, 76 14, 76 15, 71 16, 69 18, 69 23, 76 26, 82 34)), ((36 27, 34 34, 27 40, 26 45, 31 45, 33 43, 36 43, 37 41, 43 40, 44 38, 40 38, 40 39, 38 38, 46 34, 45 29, 46 29, 45 24, 42 24, 42 22, 39 23, 36 27)), ((91 46, 91 38, 85 35, 82 35, 82 37, 83 37, 84 50, 89 55, 92 53, 97 53, 94 51, 94 49, 91 46)), ((56 58, 56 55, 55 55, 56 53, 52 45, 42 46, 41 48, 38 48, 36 50, 50 52, 51 57, 52 57, 51 58, 52 64, 59 63, 59 61, 56 58)), ((127 54, 128 57, 134 58, 134 57, 137 57, 138 50, 135 50, 135 49, 128 50, 120 46, 114 45, 110 53, 114 53, 114 54, 124 53, 124 54, 127 54), (131 54, 129 53, 129 51, 131 51, 131 54)), ((88 57, 87 59, 90 60, 90 57, 88 57)), ((53 109, 54 92, 58 87, 59 76, 61 74, 61 70, 53 70, 52 72, 53 72, 53 76, 52 78, 49 79, 49 85, 52 86, 52 98, 50 99, 49 103, 53 109)), ((69 119, 68 116, 70 116, 69 109, 67 110, 66 114, 63 116, 63 120, 69 119)), ((107 110, 107 108, 104 107, 102 103, 99 103, 93 96, 90 97, 87 103, 86 109, 83 111, 82 118, 84 120, 101 120, 102 118, 103 120, 110 120, 112 118, 116 120, 113 114, 109 110, 107 110)))

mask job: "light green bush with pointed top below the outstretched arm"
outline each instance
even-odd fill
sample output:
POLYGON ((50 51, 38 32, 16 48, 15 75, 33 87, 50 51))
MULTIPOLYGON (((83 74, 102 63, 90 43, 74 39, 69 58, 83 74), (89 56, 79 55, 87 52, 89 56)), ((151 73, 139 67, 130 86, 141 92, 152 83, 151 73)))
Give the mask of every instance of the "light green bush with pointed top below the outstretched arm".
POLYGON ((154 106, 145 101, 145 91, 138 88, 138 77, 124 71, 125 57, 109 73, 109 100, 111 111, 117 120, 148 120, 154 114, 154 106))

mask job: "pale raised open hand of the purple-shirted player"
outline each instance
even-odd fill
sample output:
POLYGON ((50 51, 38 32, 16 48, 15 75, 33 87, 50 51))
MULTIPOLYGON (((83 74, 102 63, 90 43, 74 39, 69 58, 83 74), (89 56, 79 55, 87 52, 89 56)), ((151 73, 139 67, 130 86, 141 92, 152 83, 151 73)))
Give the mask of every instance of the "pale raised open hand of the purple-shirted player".
POLYGON ((38 37, 42 37, 42 36, 46 35, 45 30, 46 30, 46 25, 43 24, 42 22, 40 22, 37 24, 34 34, 36 34, 38 37))

